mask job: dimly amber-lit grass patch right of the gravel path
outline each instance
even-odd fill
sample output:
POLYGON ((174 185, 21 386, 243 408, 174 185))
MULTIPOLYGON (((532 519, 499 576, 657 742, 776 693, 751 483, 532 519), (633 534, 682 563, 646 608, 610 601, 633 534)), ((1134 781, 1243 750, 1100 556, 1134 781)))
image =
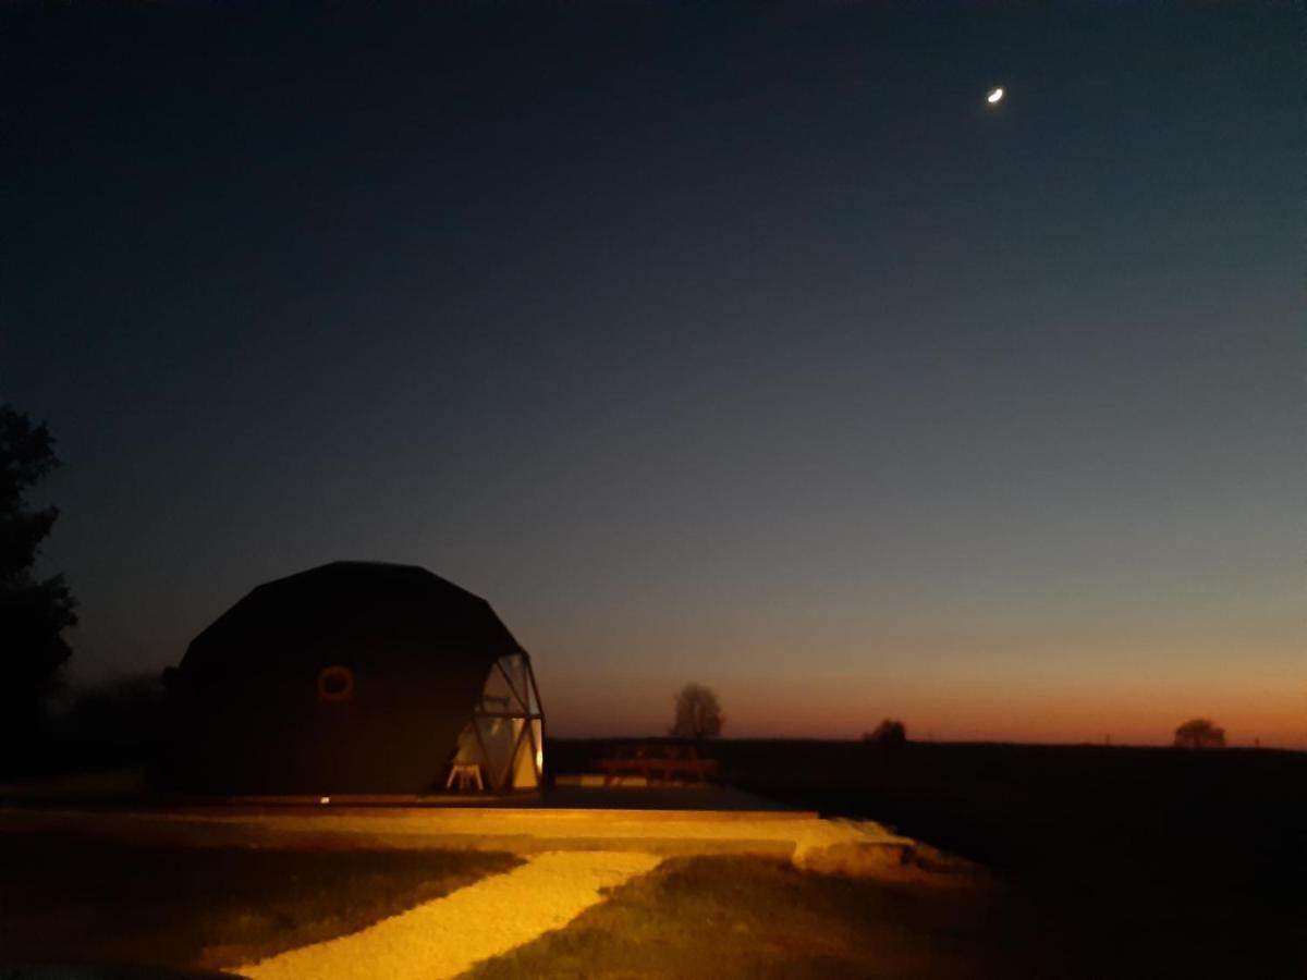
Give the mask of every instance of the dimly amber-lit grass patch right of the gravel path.
POLYGON ((1050 976, 993 890, 847 879, 753 857, 689 857, 566 929, 482 963, 494 977, 1050 976))

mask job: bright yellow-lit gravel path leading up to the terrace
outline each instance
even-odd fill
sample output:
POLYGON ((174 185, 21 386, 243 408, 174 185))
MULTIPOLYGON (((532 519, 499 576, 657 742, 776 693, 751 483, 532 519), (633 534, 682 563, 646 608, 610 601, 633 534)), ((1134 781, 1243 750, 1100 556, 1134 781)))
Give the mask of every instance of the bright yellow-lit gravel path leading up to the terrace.
POLYGON ((559 929, 603 900, 600 889, 660 861, 637 852, 546 852, 505 874, 427 902, 339 939, 305 946, 235 972, 252 980, 435 980, 461 973, 559 929))

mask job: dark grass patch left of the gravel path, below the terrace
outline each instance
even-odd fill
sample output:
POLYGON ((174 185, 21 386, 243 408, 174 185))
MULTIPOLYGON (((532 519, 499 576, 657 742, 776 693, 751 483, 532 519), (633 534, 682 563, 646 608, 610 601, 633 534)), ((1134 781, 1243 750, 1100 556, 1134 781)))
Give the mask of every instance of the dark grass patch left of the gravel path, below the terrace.
POLYGON ((0 835, 0 958, 234 967, 356 932, 516 864, 477 852, 0 835))

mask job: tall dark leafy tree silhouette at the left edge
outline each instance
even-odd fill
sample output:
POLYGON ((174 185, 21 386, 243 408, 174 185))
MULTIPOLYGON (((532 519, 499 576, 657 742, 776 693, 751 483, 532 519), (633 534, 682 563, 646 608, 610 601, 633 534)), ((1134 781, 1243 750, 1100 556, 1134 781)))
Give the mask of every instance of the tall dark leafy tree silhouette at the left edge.
MULTIPOLYGON (((60 635, 77 622, 63 575, 33 574, 59 508, 27 507, 26 493, 59 465, 44 425, 0 405, 0 737, 44 717, 72 649, 60 635)), ((10 741, 9 745, 13 745, 10 741)))

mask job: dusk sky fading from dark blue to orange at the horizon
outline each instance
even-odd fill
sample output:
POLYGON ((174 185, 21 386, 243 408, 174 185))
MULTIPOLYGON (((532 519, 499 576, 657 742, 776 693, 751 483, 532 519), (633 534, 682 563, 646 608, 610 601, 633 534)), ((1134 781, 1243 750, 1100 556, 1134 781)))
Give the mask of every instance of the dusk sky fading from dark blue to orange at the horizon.
POLYGON ((1307 747, 1291 4, 550 7, 0 12, 74 679, 374 558, 555 734, 1307 747))

